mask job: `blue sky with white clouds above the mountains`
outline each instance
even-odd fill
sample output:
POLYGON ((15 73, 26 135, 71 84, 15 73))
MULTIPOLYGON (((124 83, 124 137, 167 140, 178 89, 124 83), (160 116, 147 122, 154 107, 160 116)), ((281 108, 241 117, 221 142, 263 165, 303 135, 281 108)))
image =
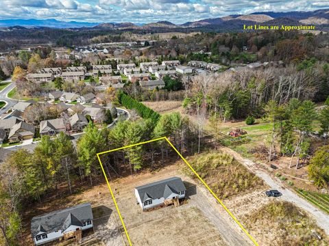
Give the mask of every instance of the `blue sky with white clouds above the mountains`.
POLYGON ((133 23, 168 20, 176 24, 256 11, 329 8, 328 0, 0 0, 0 3, 0 19, 133 23))

